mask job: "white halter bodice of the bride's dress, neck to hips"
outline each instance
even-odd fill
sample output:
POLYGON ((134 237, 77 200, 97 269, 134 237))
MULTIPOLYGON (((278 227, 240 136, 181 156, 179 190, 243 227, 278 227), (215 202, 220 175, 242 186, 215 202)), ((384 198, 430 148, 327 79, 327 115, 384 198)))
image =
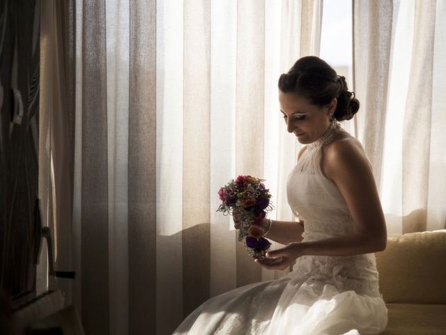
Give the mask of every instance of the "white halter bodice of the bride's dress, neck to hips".
MULTIPOLYGON (((323 147, 337 133, 345 132, 334 121, 318 140, 307 145, 291 170, 286 193, 289 205, 304 221, 304 241, 337 237, 353 232, 354 223, 337 186, 321 171, 323 147)), ((374 253, 351 256, 302 256, 289 276, 326 278, 337 287, 378 296, 378 272, 374 253)))

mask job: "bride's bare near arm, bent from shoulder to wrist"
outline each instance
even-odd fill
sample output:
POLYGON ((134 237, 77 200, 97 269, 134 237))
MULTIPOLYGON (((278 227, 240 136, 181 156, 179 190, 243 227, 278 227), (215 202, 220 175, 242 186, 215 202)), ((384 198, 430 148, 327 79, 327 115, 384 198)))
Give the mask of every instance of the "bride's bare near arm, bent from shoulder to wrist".
POLYGON ((304 255, 356 255, 383 251, 387 243, 385 218, 371 166, 354 137, 345 137, 324 147, 321 162, 346 201, 355 229, 352 234, 302 242, 304 255))

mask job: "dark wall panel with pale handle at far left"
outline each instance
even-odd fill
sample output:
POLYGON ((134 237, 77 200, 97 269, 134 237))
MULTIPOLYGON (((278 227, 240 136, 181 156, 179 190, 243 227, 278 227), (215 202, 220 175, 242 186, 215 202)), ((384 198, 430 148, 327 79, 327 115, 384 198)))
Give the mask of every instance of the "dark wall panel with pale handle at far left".
POLYGON ((32 291, 38 198, 39 1, 0 1, 0 290, 32 291))

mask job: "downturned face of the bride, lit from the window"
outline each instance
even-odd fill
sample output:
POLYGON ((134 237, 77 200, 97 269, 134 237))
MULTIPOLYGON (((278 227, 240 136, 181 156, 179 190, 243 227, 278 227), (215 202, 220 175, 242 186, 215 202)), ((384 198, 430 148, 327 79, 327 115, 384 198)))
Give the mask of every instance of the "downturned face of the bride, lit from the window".
POLYGON ((294 133, 300 143, 309 144, 327 130, 337 99, 333 98, 328 105, 318 106, 293 92, 279 91, 279 103, 289 133, 294 133))

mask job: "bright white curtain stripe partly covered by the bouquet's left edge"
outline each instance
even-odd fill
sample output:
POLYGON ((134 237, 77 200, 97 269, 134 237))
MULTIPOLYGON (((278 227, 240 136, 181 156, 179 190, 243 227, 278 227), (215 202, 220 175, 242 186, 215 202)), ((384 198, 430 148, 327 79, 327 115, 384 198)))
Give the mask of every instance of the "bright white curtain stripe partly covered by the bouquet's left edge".
POLYGON ((236 173, 237 1, 212 0, 210 22, 209 294, 215 297, 236 287, 236 230, 216 209, 218 189, 236 173))

